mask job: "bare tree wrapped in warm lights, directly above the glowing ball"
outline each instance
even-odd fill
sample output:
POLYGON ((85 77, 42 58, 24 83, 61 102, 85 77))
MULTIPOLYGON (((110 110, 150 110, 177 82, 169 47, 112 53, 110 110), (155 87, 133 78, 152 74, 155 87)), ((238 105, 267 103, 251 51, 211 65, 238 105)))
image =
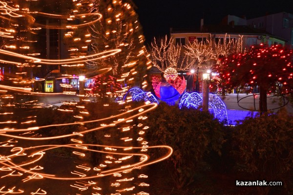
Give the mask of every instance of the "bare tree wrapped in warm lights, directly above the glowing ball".
POLYGON ((153 39, 148 56, 152 64, 162 72, 168 68, 186 70, 191 64, 188 56, 183 57, 182 46, 175 45, 174 39, 168 39, 167 35, 165 39, 153 39))

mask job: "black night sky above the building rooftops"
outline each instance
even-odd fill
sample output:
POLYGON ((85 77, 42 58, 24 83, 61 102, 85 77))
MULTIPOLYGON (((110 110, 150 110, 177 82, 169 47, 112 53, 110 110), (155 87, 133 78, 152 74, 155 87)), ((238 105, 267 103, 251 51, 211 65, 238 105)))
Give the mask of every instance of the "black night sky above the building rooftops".
POLYGON ((169 28, 198 28, 217 24, 228 14, 247 19, 293 13, 293 0, 133 0, 143 26, 146 43, 153 37, 169 34, 169 28))

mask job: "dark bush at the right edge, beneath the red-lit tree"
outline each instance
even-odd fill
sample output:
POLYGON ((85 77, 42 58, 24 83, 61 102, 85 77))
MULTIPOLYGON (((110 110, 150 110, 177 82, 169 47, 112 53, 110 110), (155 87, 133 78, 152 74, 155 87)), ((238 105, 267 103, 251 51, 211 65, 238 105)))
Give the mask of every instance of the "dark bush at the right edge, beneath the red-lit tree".
MULTIPOLYGON (((283 181, 292 185, 293 117, 286 112, 248 117, 235 127, 238 164, 244 164, 254 179, 283 181), (286 182, 287 181, 287 182, 286 182)), ((260 189, 261 194, 267 194, 260 189)))

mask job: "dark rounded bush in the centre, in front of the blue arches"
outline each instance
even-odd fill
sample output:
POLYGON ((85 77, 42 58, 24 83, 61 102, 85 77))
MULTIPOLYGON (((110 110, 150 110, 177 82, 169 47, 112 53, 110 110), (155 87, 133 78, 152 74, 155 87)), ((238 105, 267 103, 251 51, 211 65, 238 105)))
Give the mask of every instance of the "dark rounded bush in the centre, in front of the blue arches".
POLYGON ((224 125, 208 112, 180 110, 161 103, 146 121, 149 140, 169 145, 174 153, 167 159, 168 169, 178 189, 193 181, 198 162, 210 151, 221 154, 224 125))

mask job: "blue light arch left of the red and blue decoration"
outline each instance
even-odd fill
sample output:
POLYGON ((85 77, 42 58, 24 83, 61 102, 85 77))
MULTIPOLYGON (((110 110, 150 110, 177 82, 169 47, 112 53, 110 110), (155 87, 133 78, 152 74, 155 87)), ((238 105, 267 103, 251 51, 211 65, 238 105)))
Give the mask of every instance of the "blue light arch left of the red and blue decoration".
POLYGON ((150 92, 144 92, 137 87, 129 89, 123 100, 126 100, 127 97, 131 97, 132 101, 149 101, 150 103, 159 104, 158 100, 150 92))

